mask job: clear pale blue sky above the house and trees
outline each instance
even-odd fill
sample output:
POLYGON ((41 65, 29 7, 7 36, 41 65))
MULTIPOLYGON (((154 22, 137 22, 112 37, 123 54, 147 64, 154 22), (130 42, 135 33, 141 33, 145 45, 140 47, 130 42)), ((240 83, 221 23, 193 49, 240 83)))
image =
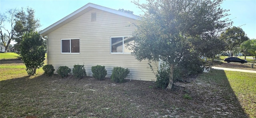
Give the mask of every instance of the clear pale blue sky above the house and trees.
MULTIPOLYGON (((116 10, 124 8, 135 15, 142 14, 131 0, 0 0, 0 12, 29 6, 35 10, 35 16, 42 24, 40 30, 43 30, 89 2, 116 10)), ((145 3, 145 0, 140 0, 140 3, 145 3)), ((226 0, 221 6, 230 10, 228 18, 234 22, 233 26, 240 26, 250 39, 256 38, 256 0, 226 0)))

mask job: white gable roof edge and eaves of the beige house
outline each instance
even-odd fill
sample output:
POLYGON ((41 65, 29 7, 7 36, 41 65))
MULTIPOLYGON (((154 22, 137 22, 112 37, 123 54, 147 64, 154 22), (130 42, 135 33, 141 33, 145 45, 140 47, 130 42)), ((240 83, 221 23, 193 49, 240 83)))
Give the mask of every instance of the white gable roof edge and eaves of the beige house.
POLYGON ((56 30, 57 28, 60 28, 61 26, 63 26, 64 24, 74 20, 75 18, 78 18, 79 16, 81 16, 82 14, 92 10, 93 8, 103 10, 103 11, 106 11, 106 12, 110 12, 110 13, 113 13, 113 14, 117 14, 117 15, 120 15, 120 16, 132 18, 132 19, 135 19, 135 20, 140 18, 140 16, 136 16, 136 15, 133 15, 133 14, 128 14, 128 13, 121 12, 121 11, 118 11, 118 10, 114 10, 114 9, 111 9, 111 8, 107 8, 107 7, 104 7, 104 6, 99 6, 97 4, 88 3, 85 6, 83 6, 83 7, 79 8, 78 10, 74 11, 73 13, 69 14, 68 16, 62 18, 61 20, 55 22, 54 24, 52 24, 52 25, 48 26, 47 28, 45 28, 44 30, 40 31, 39 34, 42 35, 42 36, 46 36, 50 32, 56 30))

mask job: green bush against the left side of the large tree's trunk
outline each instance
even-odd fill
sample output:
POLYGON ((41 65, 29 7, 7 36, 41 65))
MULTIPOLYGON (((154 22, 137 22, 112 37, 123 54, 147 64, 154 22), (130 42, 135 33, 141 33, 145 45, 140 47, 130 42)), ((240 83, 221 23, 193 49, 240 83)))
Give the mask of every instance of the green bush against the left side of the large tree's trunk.
POLYGON ((168 86, 170 77, 168 70, 169 68, 161 64, 160 70, 156 74, 156 88, 162 88, 164 90, 168 86))

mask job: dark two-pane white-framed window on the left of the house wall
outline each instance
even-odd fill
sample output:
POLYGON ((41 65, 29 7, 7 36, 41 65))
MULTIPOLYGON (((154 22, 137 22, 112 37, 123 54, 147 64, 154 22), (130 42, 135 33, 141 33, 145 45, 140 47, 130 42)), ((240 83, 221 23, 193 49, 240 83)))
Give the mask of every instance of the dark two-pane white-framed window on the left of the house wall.
POLYGON ((80 53, 79 39, 61 39, 61 53, 80 53))

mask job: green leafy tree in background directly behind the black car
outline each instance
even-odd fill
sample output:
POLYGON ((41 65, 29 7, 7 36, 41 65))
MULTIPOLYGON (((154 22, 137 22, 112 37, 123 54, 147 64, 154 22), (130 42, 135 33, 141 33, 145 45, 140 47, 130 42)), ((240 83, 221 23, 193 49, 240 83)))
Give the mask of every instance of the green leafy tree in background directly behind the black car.
POLYGON ((242 28, 233 26, 222 32, 220 38, 226 42, 226 52, 233 56, 236 48, 240 47, 242 42, 249 40, 242 28))

